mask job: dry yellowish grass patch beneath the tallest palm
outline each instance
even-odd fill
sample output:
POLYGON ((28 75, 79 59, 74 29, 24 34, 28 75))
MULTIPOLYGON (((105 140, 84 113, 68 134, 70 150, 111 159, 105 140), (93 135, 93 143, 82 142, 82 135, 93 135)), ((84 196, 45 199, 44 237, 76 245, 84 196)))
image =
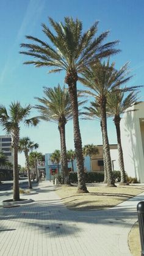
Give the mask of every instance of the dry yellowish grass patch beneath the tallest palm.
POLYGON ((114 207, 144 191, 144 186, 87 186, 88 194, 77 194, 74 186, 60 185, 56 193, 70 210, 101 210, 114 207))

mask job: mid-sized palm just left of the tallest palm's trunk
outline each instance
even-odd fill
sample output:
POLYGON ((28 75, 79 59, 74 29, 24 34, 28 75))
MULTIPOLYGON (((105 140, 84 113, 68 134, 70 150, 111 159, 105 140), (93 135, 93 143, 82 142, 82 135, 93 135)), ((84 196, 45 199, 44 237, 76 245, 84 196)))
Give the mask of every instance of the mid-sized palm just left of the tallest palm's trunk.
POLYGON ((41 103, 35 106, 40 112, 40 119, 45 121, 55 122, 58 125, 60 133, 60 150, 61 150, 61 165, 63 173, 63 182, 68 181, 68 163, 67 163, 67 148, 65 142, 65 125, 68 120, 72 119, 70 94, 68 90, 57 87, 47 88, 43 90, 45 97, 38 98, 41 103))

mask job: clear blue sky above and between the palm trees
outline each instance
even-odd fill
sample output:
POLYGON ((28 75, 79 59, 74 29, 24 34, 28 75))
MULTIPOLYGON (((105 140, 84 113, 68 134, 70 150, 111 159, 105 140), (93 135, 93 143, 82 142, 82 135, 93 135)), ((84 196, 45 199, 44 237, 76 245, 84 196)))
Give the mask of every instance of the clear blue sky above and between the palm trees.
MULTIPOLYGON (((7 108, 12 101, 21 104, 37 104, 34 97, 43 97, 43 86, 63 86, 64 76, 48 74, 48 68, 23 65, 26 56, 19 54, 20 43, 26 42, 25 35, 46 39, 41 31, 41 23, 48 24, 48 16, 62 21, 64 16, 82 20, 84 31, 98 20, 98 34, 110 30, 107 41, 119 39, 121 53, 112 58, 117 68, 130 61, 134 78, 131 85, 144 85, 144 1, 143 0, 1 0, 0 31, 0 103, 7 108)), ((80 88, 81 86, 78 87, 80 88)), ((141 100, 144 100, 141 89, 141 100)), ((35 112, 33 112, 35 114, 35 112)), ((98 121, 80 121, 82 144, 102 144, 98 121)), ((108 121, 109 142, 116 144, 115 127, 108 121)), ((0 131, 4 134, 4 131, 0 131)), ((73 145, 73 123, 67 123, 67 148, 73 145)), ((40 145, 38 151, 53 152, 59 146, 59 131, 54 123, 41 122, 37 128, 21 127, 21 137, 29 136, 40 145)), ((19 156, 24 165, 24 156, 19 156)))

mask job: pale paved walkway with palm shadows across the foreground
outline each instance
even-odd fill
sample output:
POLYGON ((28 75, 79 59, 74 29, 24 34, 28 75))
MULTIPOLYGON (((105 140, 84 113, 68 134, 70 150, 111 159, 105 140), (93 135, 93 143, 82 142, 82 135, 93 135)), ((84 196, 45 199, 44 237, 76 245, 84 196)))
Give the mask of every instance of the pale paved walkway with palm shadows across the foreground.
POLYGON ((0 208, 0 255, 129 256, 128 233, 137 221, 136 206, 144 193, 117 207, 70 211, 49 181, 21 196, 35 200, 0 208))

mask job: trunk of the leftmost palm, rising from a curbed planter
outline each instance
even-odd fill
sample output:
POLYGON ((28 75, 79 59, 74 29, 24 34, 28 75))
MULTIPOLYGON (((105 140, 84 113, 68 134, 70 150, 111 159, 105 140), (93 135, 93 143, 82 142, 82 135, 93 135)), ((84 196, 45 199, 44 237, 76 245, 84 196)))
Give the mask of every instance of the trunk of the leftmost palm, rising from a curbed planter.
POLYGON ((18 175, 18 147, 13 147, 13 200, 20 201, 19 175, 18 175))

